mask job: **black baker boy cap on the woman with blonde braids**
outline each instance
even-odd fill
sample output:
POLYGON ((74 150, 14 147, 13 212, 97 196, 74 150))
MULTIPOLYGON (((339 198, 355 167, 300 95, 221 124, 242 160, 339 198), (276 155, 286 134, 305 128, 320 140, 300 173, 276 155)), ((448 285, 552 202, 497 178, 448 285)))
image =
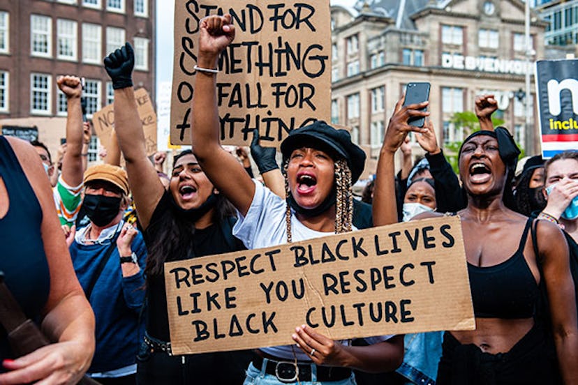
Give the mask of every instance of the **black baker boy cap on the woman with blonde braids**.
MULTIPOLYGON (((281 143, 283 163, 295 149, 311 147, 326 151, 329 156, 344 158, 351 170, 351 183, 355 183, 365 167, 365 152, 351 141, 347 130, 336 130, 325 121, 316 121, 309 126, 292 130, 281 143)), ((334 159, 336 160, 336 159, 334 159)))

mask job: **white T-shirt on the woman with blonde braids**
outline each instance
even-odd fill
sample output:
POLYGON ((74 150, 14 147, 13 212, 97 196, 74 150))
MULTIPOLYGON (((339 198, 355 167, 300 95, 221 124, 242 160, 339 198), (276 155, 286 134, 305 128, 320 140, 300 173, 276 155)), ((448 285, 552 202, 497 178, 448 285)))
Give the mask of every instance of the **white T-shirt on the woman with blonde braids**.
MULTIPOLYGON (((237 212, 237 222, 232 229, 233 235, 240 239, 246 248, 267 248, 287 243, 287 225, 285 221, 287 202, 285 199, 272 193, 269 188, 255 181, 255 195, 246 216, 237 212)), ((355 229, 357 230, 357 229, 355 229)), ((291 211, 291 235, 293 241, 320 238, 332 235, 334 232, 317 232, 299 222, 295 212, 291 211)), ((295 325, 297 326, 297 325, 295 325)), ((393 335, 380 335, 364 338, 369 344, 376 344, 392 338, 393 335)), ((350 340, 339 341, 343 345, 350 345, 350 340)), ((271 356, 298 361, 311 361, 299 347, 284 345, 262 347, 260 350, 271 356), (295 354, 295 355, 294 355, 295 354)))

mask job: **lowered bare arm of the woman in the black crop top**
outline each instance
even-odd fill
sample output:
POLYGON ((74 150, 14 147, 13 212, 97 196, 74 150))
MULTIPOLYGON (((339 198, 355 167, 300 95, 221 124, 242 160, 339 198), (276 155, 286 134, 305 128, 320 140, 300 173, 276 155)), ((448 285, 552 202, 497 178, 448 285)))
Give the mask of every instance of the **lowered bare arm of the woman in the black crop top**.
POLYGON ((558 363, 564 384, 578 384, 578 320, 568 243, 556 225, 545 220, 539 223, 537 231, 544 273, 542 279, 546 283, 550 303, 558 363))

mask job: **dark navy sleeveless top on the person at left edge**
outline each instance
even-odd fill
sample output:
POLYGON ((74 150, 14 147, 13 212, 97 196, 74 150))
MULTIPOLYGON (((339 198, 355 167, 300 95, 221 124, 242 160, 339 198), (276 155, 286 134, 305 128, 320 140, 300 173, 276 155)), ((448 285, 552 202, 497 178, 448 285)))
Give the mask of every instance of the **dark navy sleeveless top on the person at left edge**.
MULTIPOLYGON (((16 154, 1 135, 0 177, 9 200, 8 212, 0 218, 0 271, 20 307, 29 318, 36 319, 50 291, 50 271, 40 234, 42 209, 16 154)), ((6 331, 0 326, 0 360, 8 357, 6 331)))

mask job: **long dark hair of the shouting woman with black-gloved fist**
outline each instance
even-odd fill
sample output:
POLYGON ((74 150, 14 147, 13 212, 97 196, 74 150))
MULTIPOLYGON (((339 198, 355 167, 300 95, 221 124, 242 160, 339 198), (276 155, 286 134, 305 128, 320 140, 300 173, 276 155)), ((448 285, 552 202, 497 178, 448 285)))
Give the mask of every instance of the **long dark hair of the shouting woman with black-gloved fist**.
MULTIPOLYGON (((191 150, 185 150, 178 156, 193 153, 191 150)), ((174 165, 173 165, 174 167, 174 165)), ((173 200, 169 192, 169 199, 173 200)), ((173 201, 170 206, 170 215, 161 216, 161 220, 151 223, 149 227, 154 232, 155 238, 151 239, 152 243, 148 249, 147 266, 144 273, 147 277, 152 275, 163 274, 163 265, 172 257, 194 257, 191 252, 194 250, 195 222, 181 215, 177 209, 177 204, 173 201)), ((212 224, 220 225, 223 220, 230 216, 235 216, 235 208, 223 194, 216 194, 216 204, 212 215, 212 224)))

